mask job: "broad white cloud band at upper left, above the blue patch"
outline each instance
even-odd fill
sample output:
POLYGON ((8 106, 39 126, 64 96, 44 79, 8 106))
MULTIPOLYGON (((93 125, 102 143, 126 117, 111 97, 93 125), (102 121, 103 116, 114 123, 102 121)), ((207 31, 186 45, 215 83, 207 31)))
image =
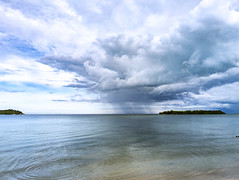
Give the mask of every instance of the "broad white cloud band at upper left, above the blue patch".
POLYGON ((24 12, 0 3, 0 27, 45 54, 74 55, 84 52, 95 40, 95 31, 82 25, 81 16, 65 1, 54 1, 48 5, 63 15, 28 17, 24 12))

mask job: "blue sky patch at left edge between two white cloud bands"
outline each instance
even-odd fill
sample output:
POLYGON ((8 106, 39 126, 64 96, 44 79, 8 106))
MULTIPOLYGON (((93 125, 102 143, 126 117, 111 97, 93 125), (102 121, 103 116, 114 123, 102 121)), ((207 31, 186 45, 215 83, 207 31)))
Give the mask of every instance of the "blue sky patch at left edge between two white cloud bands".
POLYGON ((27 57, 42 57, 44 54, 37 51, 30 42, 7 35, 0 40, 1 56, 14 54, 27 57))

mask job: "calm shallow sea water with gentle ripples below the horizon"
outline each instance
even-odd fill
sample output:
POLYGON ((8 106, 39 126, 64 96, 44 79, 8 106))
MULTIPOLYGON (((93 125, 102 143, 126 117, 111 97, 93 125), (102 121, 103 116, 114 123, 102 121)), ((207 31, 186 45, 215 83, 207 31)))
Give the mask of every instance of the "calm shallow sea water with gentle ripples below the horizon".
POLYGON ((0 116, 0 179, 239 179, 239 115, 0 116))

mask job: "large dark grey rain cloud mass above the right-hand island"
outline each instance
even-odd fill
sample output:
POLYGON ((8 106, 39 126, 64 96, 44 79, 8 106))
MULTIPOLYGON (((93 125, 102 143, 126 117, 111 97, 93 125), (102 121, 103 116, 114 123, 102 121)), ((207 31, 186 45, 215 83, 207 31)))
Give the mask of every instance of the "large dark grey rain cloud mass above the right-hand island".
POLYGON ((94 83, 69 87, 87 88, 101 94, 101 101, 118 105, 186 99, 187 93, 239 81, 239 26, 210 13, 195 21, 198 26, 181 24, 159 41, 120 34, 98 39, 98 50, 79 59, 47 57, 42 62, 84 75, 94 83))

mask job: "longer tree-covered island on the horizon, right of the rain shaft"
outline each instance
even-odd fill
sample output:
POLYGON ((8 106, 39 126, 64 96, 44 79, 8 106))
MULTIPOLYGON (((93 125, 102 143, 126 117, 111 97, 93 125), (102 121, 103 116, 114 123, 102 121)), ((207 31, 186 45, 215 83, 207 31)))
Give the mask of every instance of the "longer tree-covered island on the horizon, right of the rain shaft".
POLYGON ((159 114, 226 114, 220 110, 186 110, 186 111, 163 111, 159 114))

